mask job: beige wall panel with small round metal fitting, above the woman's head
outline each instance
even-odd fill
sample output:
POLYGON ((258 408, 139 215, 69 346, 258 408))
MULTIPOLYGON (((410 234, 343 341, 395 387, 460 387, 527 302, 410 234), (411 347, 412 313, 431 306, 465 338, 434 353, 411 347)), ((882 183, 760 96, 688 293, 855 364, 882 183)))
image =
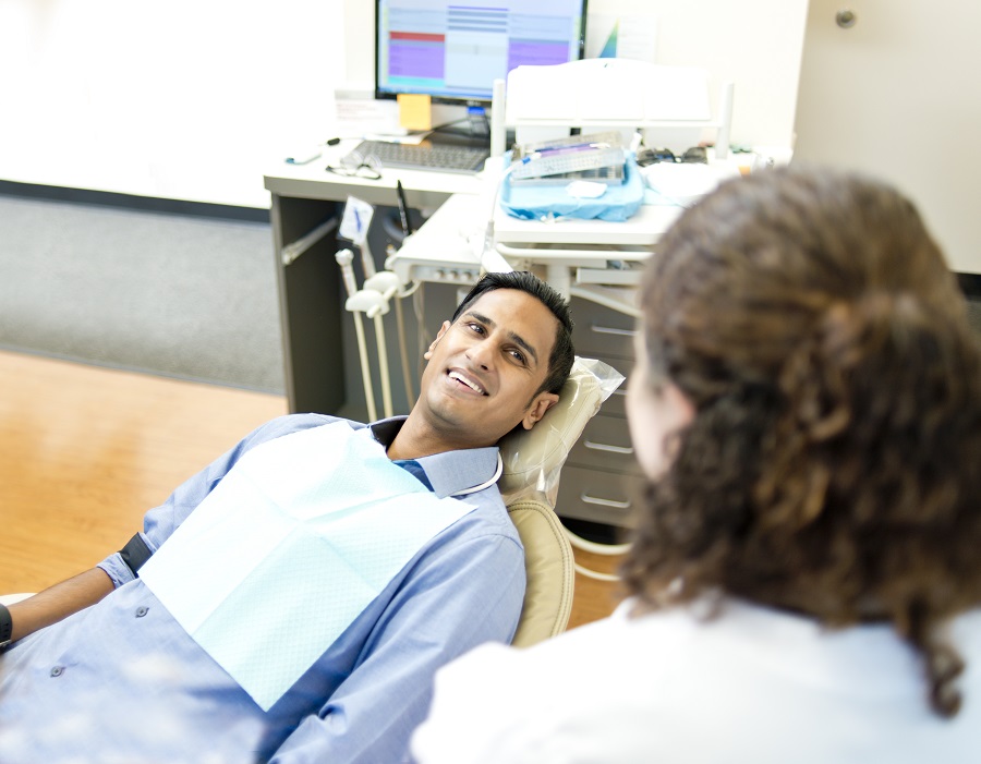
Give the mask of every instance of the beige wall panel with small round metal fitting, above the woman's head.
POLYGON ((860 170, 897 185, 920 209, 954 270, 981 274, 981 5, 811 0, 800 78, 796 159, 860 170))

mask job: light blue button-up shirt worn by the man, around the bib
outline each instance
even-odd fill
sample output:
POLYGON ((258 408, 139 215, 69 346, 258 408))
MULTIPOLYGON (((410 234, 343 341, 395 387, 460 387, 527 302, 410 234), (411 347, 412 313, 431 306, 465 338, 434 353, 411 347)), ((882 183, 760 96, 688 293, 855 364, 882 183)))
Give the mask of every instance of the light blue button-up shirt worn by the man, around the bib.
MULTIPOLYGON (((249 449, 336 421, 302 414, 259 427, 147 512, 146 541, 158 548, 249 449)), ((388 444, 401 422, 372 429, 388 444)), ((416 461, 444 497, 489 480, 497 449, 416 461)), ((465 500, 477 508, 420 549, 265 713, 110 556, 100 567, 114 592, 0 655, 0 764, 402 761, 435 670, 483 642, 509 642, 521 611, 524 553, 500 494, 492 485, 465 500)))

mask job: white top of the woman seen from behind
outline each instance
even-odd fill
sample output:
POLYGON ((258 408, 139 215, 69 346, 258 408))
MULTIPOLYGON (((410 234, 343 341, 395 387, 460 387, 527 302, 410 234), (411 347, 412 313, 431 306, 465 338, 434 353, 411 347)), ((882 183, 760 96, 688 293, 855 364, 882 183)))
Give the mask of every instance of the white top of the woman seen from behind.
POLYGON ((729 602, 479 647, 439 671, 419 764, 974 762, 981 610, 953 636, 964 706, 930 711, 918 655, 883 626, 841 631, 729 602))

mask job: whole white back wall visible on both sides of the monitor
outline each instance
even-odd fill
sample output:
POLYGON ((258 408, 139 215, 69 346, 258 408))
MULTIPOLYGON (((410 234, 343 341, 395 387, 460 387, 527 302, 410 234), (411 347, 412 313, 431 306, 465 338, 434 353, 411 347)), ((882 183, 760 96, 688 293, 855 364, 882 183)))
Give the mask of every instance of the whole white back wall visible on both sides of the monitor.
MULTIPOLYGON (((591 0, 736 81, 732 141, 791 140, 807 0, 591 0)), ((0 0, 0 179, 267 207, 263 173, 373 83, 370 0, 0 0)))

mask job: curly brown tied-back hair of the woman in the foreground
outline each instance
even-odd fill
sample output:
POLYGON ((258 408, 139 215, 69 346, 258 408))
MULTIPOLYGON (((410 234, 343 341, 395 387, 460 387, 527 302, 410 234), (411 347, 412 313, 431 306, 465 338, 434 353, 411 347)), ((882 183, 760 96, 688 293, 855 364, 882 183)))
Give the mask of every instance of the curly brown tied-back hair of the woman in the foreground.
POLYGON ((638 610, 726 593, 889 622, 956 714, 938 628, 981 602, 981 352, 913 205, 827 170, 736 179, 662 240, 642 305, 647 376, 695 415, 646 488, 638 610))

